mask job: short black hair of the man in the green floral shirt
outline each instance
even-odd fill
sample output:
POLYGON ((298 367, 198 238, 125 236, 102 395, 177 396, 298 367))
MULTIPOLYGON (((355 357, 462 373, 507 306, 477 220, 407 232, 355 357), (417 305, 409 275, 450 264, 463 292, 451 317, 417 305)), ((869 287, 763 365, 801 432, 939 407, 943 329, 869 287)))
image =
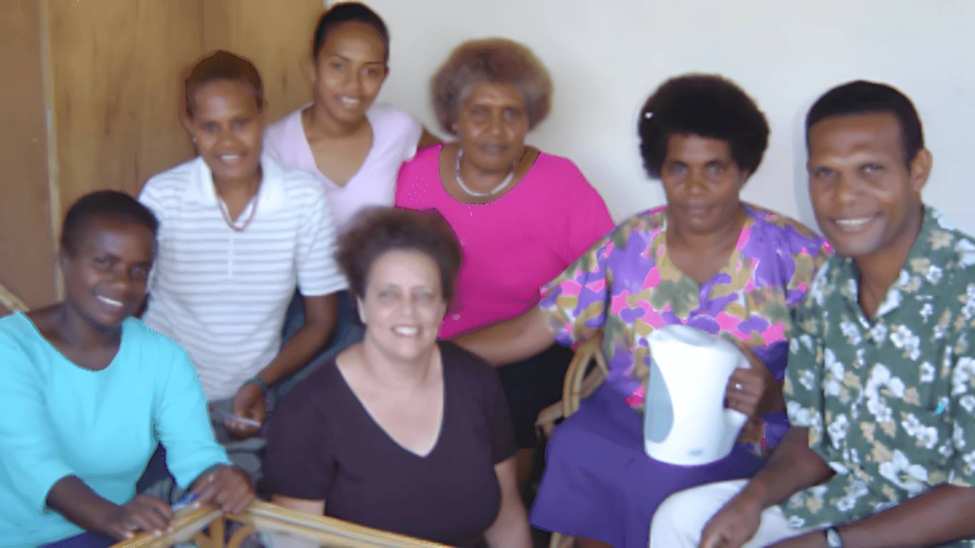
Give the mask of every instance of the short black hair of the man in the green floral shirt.
POLYGON ((917 109, 900 90, 878 82, 847 82, 816 99, 805 116, 805 146, 809 147, 809 130, 826 118, 882 112, 897 118, 904 145, 904 161, 910 167, 917 152, 924 148, 924 130, 917 109))

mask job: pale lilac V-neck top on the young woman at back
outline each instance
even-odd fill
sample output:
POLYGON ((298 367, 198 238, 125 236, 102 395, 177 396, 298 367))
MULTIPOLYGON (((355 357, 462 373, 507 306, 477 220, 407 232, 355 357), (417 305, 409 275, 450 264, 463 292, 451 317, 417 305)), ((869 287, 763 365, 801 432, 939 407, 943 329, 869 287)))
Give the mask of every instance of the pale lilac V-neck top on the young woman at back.
POLYGON ((408 113, 388 104, 373 104, 366 111, 372 127, 372 148, 362 167, 345 186, 331 182, 318 170, 301 125, 301 111, 308 105, 268 126, 264 152, 285 166, 308 172, 325 185, 335 227, 344 232, 360 210, 368 206, 392 206, 396 174, 403 162, 416 154, 423 126, 408 113))

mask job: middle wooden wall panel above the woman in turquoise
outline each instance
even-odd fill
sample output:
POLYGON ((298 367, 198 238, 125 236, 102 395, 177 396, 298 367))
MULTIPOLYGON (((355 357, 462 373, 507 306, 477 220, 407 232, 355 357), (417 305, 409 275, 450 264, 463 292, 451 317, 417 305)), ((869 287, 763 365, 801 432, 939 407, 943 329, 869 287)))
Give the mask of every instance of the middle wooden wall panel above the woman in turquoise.
POLYGON ((137 193, 192 156, 178 114, 199 0, 50 0, 50 21, 62 210, 96 189, 137 193))

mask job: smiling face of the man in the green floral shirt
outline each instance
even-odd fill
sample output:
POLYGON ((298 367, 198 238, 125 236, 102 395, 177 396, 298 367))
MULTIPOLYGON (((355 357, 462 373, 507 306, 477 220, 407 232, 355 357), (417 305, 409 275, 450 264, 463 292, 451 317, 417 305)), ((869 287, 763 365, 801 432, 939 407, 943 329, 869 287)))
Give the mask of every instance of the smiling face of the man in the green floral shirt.
POLYGON ((909 250, 923 216, 920 190, 931 156, 908 165, 900 125, 889 113, 823 119, 809 129, 809 195, 820 229, 853 258, 909 250))

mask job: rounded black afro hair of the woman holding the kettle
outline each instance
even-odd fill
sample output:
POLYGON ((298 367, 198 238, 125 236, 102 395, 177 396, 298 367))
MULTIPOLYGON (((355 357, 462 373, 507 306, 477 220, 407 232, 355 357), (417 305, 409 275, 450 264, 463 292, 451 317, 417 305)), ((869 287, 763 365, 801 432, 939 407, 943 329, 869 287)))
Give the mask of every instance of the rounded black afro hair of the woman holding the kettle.
POLYGON ((728 143, 738 168, 754 174, 768 146, 768 122, 752 98, 715 74, 686 74, 664 82, 643 103, 637 122, 643 167, 660 178, 672 135, 728 143))

